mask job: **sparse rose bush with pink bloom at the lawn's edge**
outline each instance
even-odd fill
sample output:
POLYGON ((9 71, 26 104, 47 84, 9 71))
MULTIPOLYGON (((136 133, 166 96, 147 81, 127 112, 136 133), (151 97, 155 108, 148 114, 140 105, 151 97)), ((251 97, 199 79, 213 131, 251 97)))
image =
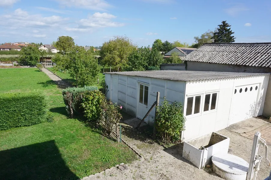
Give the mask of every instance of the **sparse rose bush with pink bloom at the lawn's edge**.
POLYGON ((113 131, 113 125, 122 119, 122 115, 119 113, 121 109, 122 106, 112 104, 111 101, 104 100, 102 102, 100 122, 107 134, 110 134, 113 131))

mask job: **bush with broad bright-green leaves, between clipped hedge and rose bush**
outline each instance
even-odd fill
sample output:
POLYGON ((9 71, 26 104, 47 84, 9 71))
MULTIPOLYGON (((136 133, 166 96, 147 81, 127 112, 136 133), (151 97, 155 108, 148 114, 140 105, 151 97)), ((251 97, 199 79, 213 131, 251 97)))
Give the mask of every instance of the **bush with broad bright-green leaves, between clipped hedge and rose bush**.
POLYGON ((101 91, 89 91, 83 94, 84 116, 88 121, 97 123, 101 116, 102 103, 106 101, 101 91))

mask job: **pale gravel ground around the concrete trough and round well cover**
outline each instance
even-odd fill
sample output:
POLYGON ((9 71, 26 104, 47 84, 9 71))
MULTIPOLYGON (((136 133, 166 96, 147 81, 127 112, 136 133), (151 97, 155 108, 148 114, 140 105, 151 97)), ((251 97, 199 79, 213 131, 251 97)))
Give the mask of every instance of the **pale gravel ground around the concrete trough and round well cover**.
MULTIPOLYGON (((137 131, 128 125, 126 125, 122 131, 122 138, 125 139, 132 148, 139 152, 143 158, 140 158, 131 164, 125 164, 127 167, 126 170, 120 170, 119 168, 113 167, 104 173, 97 173, 92 177, 86 178, 87 180, 221 179, 212 172, 212 168, 200 170, 182 158, 182 144, 165 149, 153 142, 142 131, 137 131)), ((230 138, 230 154, 239 156, 249 162, 253 143, 252 140, 226 129, 218 131, 218 133, 230 138)), ((264 155, 264 153, 263 148, 261 148, 260 155, 264 155)), ((271 157, 271 150, 268 152, 268 157, 271 157)), ((266 166, 265 162, 266 161, 263 159, 257 180, 263 180, 269 176, 271 167, 266 166)))

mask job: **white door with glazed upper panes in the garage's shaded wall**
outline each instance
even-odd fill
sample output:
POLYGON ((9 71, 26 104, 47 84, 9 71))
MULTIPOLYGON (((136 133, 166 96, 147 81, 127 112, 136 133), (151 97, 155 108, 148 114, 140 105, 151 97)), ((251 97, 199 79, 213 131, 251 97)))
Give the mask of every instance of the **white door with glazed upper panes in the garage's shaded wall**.
MULTIPOLYGON (((143 119, 148 112, 148 101, 149 101, 149 86, 139 84, 139 99, 137 106, 137 118, 143 119)), ((144 120, 148 123, 149 116, 144 120)))

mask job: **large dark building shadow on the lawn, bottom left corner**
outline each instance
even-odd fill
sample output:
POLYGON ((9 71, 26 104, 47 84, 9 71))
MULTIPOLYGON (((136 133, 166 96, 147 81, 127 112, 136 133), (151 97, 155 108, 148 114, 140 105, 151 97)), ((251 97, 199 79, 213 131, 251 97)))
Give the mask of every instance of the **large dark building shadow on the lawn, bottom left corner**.
POLYGON ((66 166, 54 140, 0 151, 1 179, 79 179, 66 166))

